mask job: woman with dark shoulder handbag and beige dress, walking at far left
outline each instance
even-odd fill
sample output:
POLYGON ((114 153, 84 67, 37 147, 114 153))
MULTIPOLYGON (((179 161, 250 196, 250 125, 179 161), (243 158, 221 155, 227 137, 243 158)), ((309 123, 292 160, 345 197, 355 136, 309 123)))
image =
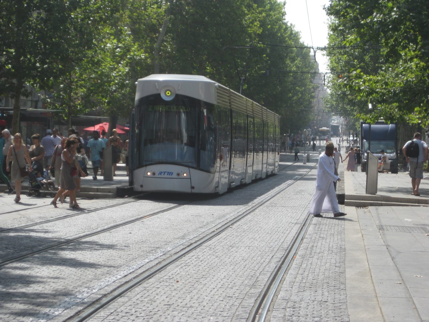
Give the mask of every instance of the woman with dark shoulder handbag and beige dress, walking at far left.
POLYGON ((6 156, 6 171, 9 171, 10 158, 12 158, 10 177, 11 181, 15 181, 15 199, 13 201, 18 203, 21 200, 21 181, 28 176, 25 161, 27 161, 30 166, 29 170, 33 171, 27 147, 22 142, 21 133, 15 134, 12 139, 12 145, 9 147, 9 151, 6 156))

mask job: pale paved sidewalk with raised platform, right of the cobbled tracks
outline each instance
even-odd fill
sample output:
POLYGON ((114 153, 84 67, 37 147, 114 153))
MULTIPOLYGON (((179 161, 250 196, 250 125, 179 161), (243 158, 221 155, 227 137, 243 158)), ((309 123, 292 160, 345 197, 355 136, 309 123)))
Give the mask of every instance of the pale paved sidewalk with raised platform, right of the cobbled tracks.
POLYGON ((376 195, 365 180, 344 171, 350 321, 429 321, 429 178, 420 197, 408 172, 379 173, 376 195))

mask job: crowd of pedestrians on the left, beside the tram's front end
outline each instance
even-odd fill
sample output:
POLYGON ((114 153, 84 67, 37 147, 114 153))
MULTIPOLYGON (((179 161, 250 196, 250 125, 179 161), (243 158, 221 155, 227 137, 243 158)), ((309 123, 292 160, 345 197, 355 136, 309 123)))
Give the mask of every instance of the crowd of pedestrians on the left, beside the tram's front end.
MULTIPOLYGON (((104 149, 110 145, 112 145, 112 164, 114 175, 116 175, 116 164, 121 159, 123 145, 116 130, 112 131, 113 135, 109 139, 106 138, 104 130, 101 138, 100 132, 94 131, 89 142, 79 136, 79 133, 73 128, 69 128, 67 132, 67 137, 62 136, 56 128, 52 131, 46 130, 44 137, 33 134, 31 140, 27 139, 28 146, 20 133, 11 135, 7 129, 1 132, 0 179, 7 185, 9 194, 15 192, 15 203, 21 200, 21 182, 29 175, 29 172, 32 172, 34 181, 41 185, 49 185, 53 189, 55 189, 55 185, 58 187, 58 191, 51 201, 55 208, 58 200, 62 204, 68 196, 69 207, 80 209, 76 193, 80 191, 81 178, 88 176, 88 156, 94 169, 92 178, 97 180, 100 169, 103 175, 104 149), (55 182, 51 180, 51 176, 54 177, 55 182), (12 188, 10 182, 15 183, 15 189, 12 188)), ((125 150, 128 147, 127 143, 128 140, 125 150)))

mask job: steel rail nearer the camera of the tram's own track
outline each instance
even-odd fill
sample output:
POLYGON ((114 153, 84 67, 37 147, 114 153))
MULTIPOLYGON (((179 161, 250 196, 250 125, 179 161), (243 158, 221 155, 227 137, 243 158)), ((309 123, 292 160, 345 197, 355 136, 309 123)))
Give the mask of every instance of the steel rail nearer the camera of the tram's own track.
POLYGON ((19 260, 27 258, 27 257, 31 257, 33 255, 40 254, 42 252, 46 252, 46 251, 51 250, 51 249, 55 249, 55 248, 58 248, 58 247, 61 247, 61 246, 65 246, 65 245, 74 243, 74 242, 76 242, 78 240, 82 240, 82 239, 85 239, 85 238, 88 238, 88 237, 96 236, 96 235, 102 234, 102 233, 104 233, 106 231, 111 231, 112 229, 132 224, 133 222, 138 222, 140 220, 147 219, 147 218, 155 216, 155 215, 159 215, 160 213, 165 213, 165 212, 167 212, 169 210, 173 210, 173 209, 176 209, 176 208, 179 208, 179 207, 183 207, 186 204, 175 205, 175 206, 163 209, 163 210, 158 210, 158 211, 156 211, 154 213, 150 213, 148 215, 144 215, 144 216, 141 216, 141 217, 138 217, 138 218, 130 219, 130 220, 127 220, 126 222, 120 222, 118 224, 115 224, 115 225, 112 225, 112 226, 100 229, 98 231, 94 231, 94 232, 89 233, 89 234, 84 234, 84 235, 79 236, 79 237, 70 238, 70 239, 64 240, 62 242, 55 243, 55 244, 53 244, 51 246, 46 246, 46 247, 43 247, 43 248, 40 248, 40 249, 36 249, 33 252, 27 252, 27 253, 22 254, 22 255, 18 255, 18 256, 7 258, 7 259, 5 259, 3 261, 0 261, 0 267, 4 266, 4 265, 7 265, 7 264, 11 264, 11 263, 13 263, 15 261, 19 261, 19 260))

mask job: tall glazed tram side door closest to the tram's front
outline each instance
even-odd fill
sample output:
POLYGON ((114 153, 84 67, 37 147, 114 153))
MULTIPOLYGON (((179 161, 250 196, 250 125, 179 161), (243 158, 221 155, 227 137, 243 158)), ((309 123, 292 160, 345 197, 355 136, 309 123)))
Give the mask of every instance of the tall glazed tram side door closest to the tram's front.
POLYGON ((231 144, 231 122, 230 109, 219 106, 218 109, 218 138, 219 138, 219 184, 220 194, 228 190, 228 178, 230 176, 230 144, 231 144))

